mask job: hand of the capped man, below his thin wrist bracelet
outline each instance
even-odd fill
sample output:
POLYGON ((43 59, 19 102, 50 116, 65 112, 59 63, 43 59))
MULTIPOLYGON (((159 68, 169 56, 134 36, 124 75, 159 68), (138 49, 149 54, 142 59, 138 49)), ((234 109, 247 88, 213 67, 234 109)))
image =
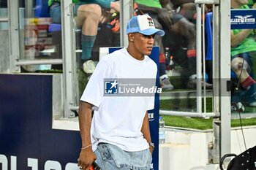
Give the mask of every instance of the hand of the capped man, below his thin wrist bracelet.
POLYGON ((79 169, 89 170, 91 164, 97 159, 91 147, 81 150, 78 158, 79 169))

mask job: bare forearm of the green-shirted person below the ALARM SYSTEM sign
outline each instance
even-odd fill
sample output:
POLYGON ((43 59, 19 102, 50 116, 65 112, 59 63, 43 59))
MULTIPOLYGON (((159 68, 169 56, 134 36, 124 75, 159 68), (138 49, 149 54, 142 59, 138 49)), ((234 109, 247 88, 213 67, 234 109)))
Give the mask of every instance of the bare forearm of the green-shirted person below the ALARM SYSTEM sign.
POLYGON ((252 29, 243 29, 238 34, 233 34, 233 31, 231 31, 231 47, 238 46, 251 33, 252 29))

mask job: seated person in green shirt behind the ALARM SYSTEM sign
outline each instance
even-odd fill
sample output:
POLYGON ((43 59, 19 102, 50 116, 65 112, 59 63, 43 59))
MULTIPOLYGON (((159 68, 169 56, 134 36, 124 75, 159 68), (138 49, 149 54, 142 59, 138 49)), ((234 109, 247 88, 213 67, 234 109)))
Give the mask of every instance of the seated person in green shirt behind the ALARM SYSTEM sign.
MULTIPOLYGON (((249 9, 247 0, 231 0, 233 9, 249 9)), ((254 4, 252 8, 256 8, 254 4)), ((249 93, 249 106, 256 107, 256 42, 253 29, 231 30, 231 69, 239 85, 249 93)))

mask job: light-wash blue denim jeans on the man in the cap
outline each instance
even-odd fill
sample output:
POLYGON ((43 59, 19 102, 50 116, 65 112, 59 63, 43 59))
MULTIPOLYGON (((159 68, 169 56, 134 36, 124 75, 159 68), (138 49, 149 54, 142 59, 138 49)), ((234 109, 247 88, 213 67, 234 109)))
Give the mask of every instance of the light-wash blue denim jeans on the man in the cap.
POLYGON ((127 152, 113 144, 99 143, 95 161, 102 170, 149 170, 152 156, 149 151, 127 152))

